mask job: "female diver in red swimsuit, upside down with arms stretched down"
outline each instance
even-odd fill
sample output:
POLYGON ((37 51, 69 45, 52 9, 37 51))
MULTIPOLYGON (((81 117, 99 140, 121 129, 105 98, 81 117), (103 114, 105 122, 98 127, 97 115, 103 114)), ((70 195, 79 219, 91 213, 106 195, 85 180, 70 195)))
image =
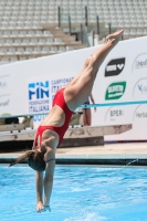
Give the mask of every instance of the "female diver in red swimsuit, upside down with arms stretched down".
POLYGON ((50 198, 55 168, 55 150, 62 143, 73 112, 91 95, 98 69, 111 50, 118 43, 124 30, 106 38, 102 48, 85 61, 83 70, 65 87, 57 91, 53 107, 39 126, 33 150, 14 159, 10 166, 28 158, 29 166, 35 170, 36 211, 51 211, 50 198), (43 175, 45 171, 45 175, 43 175), (43 200, 44 190, 44 200, 43 200))

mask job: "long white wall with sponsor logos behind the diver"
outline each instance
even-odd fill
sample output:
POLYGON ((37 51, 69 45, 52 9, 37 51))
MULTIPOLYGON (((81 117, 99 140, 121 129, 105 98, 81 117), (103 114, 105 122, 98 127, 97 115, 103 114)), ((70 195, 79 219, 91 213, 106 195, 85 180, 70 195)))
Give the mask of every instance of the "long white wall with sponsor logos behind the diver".
MULTIPOLYGON (((1 65, 0 115, 2 113, 17 115, 50 109, 56 90, 65 85, 82 70, 86 57, 97 48, 1 65), (29 84, 31 83, 35 83, 30 85, 30 91, 34 94, 29 101, 29 84), (38 86, 36 83, 40 85, 38 86), (35 93, 38 87, 40 92, 41 88, 44 91, 43 97, 39 99, 36 99, 35 93)), ((93 95, 96 103, 147 101, 146 36, 122 41, 112 50, 99 69, 93 95), (111 76, 105 76, 105 72, 111 76), (108 88, 111 84, 112 86, 108 88), (109 92, 107 96, 106 91, 109 92), (113 96, 113 98, 106 99, 105 96, 113 96)), ((40 124, 41 118, 40 116, 34 119, 35 127, 40 124)), ((92 118, 93 125, 133 124, 130 131, 117 136, 106 136, 106 140, 147 139, 147 105, 101 107, 96 113, 92 109, 92 118)))

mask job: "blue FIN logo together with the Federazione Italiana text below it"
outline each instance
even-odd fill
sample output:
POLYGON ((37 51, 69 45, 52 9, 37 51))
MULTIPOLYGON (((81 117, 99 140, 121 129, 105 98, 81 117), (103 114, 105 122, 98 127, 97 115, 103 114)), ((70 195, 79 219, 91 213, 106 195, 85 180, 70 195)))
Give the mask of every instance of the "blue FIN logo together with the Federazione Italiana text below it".
POLYGON ((29 113, 49 112, 50 110, 49 81, 29 83, 28 86, 29 86, 29 113))

